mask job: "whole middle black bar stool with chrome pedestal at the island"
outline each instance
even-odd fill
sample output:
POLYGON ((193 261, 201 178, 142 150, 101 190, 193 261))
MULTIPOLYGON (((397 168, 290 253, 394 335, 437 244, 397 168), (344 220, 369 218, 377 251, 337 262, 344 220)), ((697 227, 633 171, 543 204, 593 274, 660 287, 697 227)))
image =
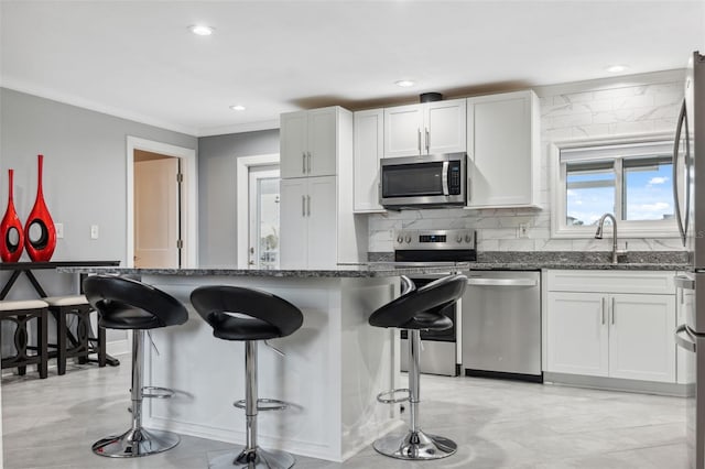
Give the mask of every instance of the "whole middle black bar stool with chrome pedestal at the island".
POLYGON ((257 446, 258 411, 286 408, 286 403, 272 399, 258 399, 257 394, 257 341, 285 337, 303 324, 301 310, 267 292, 238 286, 202 286, 191 294, 191 303, 213 335, 223 340, 245 341, 245 401, 235 403, 245 408, 247 440, 239 454, 219 456, 209 462, 212 469, 268 468, 288 469, 295 459, 279 450, 263 450, 257 446))

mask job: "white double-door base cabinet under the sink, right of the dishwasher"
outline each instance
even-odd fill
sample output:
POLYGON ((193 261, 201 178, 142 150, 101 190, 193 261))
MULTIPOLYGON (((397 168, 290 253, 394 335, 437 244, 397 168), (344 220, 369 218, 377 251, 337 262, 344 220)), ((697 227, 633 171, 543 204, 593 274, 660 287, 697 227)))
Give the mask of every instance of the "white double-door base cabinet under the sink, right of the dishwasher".
POLYGON ((673 274, 565 272, 546 276, 545 371, 675 383, 675 294, 666 286, 673 274), (639 280, 664 288, 621 293, 640 290, 639 280), (596 292, 606 281, 608 291, 596 292))

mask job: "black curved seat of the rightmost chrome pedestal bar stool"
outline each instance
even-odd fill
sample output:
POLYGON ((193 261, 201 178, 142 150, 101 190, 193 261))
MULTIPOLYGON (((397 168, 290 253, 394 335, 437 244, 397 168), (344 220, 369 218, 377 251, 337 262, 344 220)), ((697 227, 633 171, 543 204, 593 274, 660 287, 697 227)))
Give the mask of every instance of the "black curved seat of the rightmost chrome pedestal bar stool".
POLYGON ((465 293, 466 286, 465 275, 438 279, 377 309, 370 315, 369 324, 401 329, 449 329, 453 327, 453 320, 443 314, 443 309, 457 302, 465 293))

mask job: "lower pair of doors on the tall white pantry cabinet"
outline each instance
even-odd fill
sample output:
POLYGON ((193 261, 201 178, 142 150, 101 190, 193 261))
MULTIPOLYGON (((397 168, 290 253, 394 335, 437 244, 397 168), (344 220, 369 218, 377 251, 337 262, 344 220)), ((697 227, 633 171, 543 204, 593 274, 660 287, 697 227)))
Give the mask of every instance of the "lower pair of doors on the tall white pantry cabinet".
POLYGON ((280 184, 281 268, 330 268, 337 259, 336 177, 299 177, 280 184))

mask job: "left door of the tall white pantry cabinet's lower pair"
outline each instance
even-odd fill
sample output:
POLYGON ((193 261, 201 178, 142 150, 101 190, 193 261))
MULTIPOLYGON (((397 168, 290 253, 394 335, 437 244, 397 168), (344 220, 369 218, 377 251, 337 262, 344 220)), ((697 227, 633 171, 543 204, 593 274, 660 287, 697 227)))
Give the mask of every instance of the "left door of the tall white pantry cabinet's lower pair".
POLYGON ((305 269, 307 265, 307 187, 305 177, 280 182, 279 255, 282 269, 305 269))

